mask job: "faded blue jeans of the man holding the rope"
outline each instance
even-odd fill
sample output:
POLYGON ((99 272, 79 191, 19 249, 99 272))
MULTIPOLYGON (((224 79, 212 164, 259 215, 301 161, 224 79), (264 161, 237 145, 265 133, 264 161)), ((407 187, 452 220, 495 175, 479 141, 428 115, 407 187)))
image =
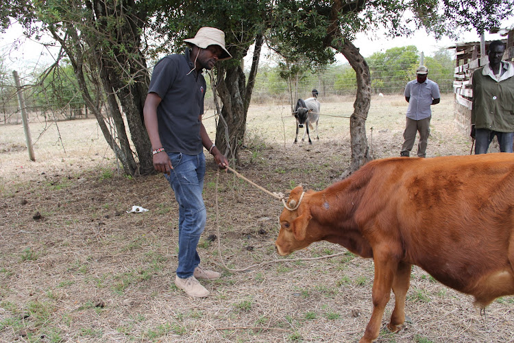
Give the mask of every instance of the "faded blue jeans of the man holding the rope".
POLYGON ((204 199, 205 155, 169 153, 173 169, 167 178, 178 202, 178 267, 177 275, 186 279, 200 263, 196 250, 207 219, 204 199))

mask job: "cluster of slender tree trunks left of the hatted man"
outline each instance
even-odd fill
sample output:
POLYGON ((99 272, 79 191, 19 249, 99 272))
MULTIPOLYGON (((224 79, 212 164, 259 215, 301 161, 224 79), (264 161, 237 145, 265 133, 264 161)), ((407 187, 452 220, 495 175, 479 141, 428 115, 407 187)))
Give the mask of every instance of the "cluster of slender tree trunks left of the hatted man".
MULTIPOLYGON (((140 51, 140 25, 143 25, 143 21, 138 14, 134 14, 134 1, 122 3, 109 7, 102 5, 101 1, 93 1, 91 10, 95 12, 96 26, 107 36, 112 34, 112 27, 108 24, 110 17, 117 16, 123 20, 119 20, 115 26, 117 44, 112 45, 110 51, 95 45, 95 42, 91 42, 90 46, 95 47, 94 55, 101 66, 99 71, 104 91, 110 99, 108 103, 112 117, 117 123, 121 148, 127 156, 133 156, 118 104, 127 118, 130 137, 139 159, 139 167, 135 161, 127 166, 130 175, 134 176, 154 172, 151 145, 143 121, 149 75, 145 68, 146 60, 140 51)), ((96 38, 93 36, 93 39, 96 38)))

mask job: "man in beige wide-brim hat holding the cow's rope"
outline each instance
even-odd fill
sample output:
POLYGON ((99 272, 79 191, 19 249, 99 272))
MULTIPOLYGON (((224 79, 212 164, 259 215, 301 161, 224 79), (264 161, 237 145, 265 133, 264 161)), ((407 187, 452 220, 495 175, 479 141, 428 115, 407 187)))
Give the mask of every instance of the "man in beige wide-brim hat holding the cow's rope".
POLYGON ((162 58, 154 67, 143 114, 151 142, 154 167, 167 178, 179 205, 178 267, 175 285, 189 296, 204 298, 209 291, 197 279, 218 279, 221 274, 200 267, 197 244, 206 224, 204 147, 220 168, 228 161, 208 137, 204 113, 206 82, 203 69, 232 58, 225 48, 225 34, 201 27, 185 39, 184 55, 162 58))

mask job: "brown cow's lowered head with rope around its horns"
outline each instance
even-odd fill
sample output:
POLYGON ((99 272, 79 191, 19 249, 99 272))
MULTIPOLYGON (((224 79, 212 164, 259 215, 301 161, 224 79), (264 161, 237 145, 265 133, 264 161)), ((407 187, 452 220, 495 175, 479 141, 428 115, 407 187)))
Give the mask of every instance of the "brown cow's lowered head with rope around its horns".
MULTIPOLYGON (((298 204, 304 189, 298 186, 291 191, 287 205, 294 209, 298 204)), ((310 191, 309 193, 313 193, 310 191)), ((306 248, 311 243, 319 241, 316 230, 308 230, 312 216, 310 215, 309 193, 305 193, 298 208, 291 211, 284 208, 280 214, 280 232, 278 233, 275 246, 281 256, 289 255, 291 252, 306 248)))

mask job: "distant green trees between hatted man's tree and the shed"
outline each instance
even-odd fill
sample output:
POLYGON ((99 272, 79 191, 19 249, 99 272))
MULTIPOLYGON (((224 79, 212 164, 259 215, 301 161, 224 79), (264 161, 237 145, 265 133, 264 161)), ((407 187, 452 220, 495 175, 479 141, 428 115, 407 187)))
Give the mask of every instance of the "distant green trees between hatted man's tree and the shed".
MULTIPOLYGON (((405 84, 415 79, 421 53, 414 45, 393 47, 385 52, 376 52, 366 58, 371 72, 373 93, 403 93, 405 84)), ((424 57, 428 67, 428 78, 439 84, 443 93, 453 91, 454 58, 452 51, 441 49, 433 56, 424 57)), ((354 95, 357 90, 356 74, 350 64, 331 64, 322 69, 299 69, 294 80, 284 78, 280 64, 271 67, 262 65, 256 78, 255 100, 265 97, 287 97, 289 83, 296 87, 299 97, 310 94, 317 88, 323 96, 354 95)), ((293 97, 294 98, 294 97, 293 97)))

